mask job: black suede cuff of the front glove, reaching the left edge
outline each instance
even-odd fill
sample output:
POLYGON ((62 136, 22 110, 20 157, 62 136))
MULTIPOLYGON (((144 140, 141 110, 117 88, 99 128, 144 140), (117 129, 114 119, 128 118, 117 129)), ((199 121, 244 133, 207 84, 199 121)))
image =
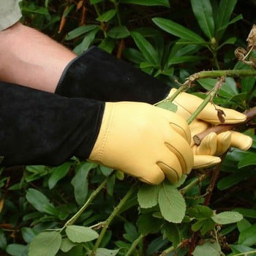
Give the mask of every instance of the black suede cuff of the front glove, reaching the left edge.
POLYGON ((0 82, 1 165, 59 165, 89 157, 105 102, 0 82))

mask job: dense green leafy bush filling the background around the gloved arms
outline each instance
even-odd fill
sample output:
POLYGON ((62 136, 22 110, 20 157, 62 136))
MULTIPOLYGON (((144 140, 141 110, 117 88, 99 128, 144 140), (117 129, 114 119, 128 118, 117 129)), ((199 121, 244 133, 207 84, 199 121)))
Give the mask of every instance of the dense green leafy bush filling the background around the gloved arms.
MULTIPOLYGON (((170 86, 201 70, 253 70, 234 50, 247 48, 255 1, 24 0, 20 7, 24 24, 75 53, 98 45, 170 86)), ((214 83, 197 80, 189 92, 203 97, 198 92, 214 83)), ((255 88, 255 77, 227 78, 214 100, 244 111, 255 105, 255 88)), ((193 171, 176 186, 151 187, 75 157, 59 167, 2 168, 0 255, 256 255, 255 128, 240 128, 254 140, 249 151, 231 148, 219 170, 193 171)))

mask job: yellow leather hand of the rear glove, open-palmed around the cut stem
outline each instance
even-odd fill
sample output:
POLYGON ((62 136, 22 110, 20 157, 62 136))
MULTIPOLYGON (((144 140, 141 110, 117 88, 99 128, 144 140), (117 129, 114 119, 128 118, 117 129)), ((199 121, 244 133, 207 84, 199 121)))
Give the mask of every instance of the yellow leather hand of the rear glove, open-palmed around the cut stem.
MULTIPOLYGON (((170 95, 175 91, 176 89, 171 89, 170 95)), ((176 113, 186 120, 195 112, 202 102, 203 99, 185 92, 178 94, 178 97, 173 101, 173 103, 178 106, 176 113)), ((236 110, 221 108, 219 106, 216 107, 224 111, 225 124, 238 124, 246 120, 246 116, 236 110)), ((220 124, 217 110, 213 104, 208 103, 206 108, 204 108, 197 118, 192 121, 192 124, 189 124, 192 138, 194 135, 197 135, 216 124, 220 124)), ((240 148, 241 150, 247 150, 252 146, 252 138, 243 135, 240 132, 227 131, 221 132, 219 135, 215 132, 209 133, 203 138, 200 146, 196 146, 192 140, 191 147, 195 155, 194 168, 209 167, 216 164, 220 159, 219 157, 213 156, 220 156, 227 151, 230 146, 240 148)))

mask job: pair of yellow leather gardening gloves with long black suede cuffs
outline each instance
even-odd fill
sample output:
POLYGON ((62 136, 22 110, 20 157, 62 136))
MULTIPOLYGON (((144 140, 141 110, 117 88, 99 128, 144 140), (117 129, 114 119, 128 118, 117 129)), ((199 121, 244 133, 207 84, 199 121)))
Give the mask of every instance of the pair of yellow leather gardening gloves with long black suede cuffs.
MULTIPOLYGON (((56 93, 0 83, 1 165, 59 165, 72 156, 88 159, 148 184, 176 183, 192 168, 209 167, 230 146, 248 149, 239 132, 211 133, 195 146, 192 136, 219 124, 209 103, 192 124, 187 118, 202 99, 181 93, 176 113, 152 104, 173 94, 124 61, 91 48, 64 70, 56 93), (11 102, 11 104, 10 104, 11 102)), ((245 121, 220 108, 225 124, 245 121)))

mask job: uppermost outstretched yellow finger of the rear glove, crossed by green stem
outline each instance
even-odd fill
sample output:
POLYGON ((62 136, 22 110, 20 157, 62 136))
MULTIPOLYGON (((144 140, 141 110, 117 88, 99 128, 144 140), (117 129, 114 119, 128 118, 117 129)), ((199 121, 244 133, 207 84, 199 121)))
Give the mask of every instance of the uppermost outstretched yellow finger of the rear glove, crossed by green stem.
MULTIPOLYGON (((176 91, 176 89, 171 89, 170 94, 173 94, 176 91)), ((181 92, 181 94, 178 94, 178 97, 173 100, 173 103, 178 105, 178 112, 182 115, 188 115, 189 116, 195 112, 195 110, 198 108, 198 106, 203 102, 203 99, 200 99, 199 97, 187 94, 185 92, 181 92), (179 109, 181 108, 181 109, 179 109)), ((239 113, 236 110, 230 109, 230 108, 222 108, 219 106, 216 106, 219 110, 222 110, 225 114, 225 124, 237 124, 241 123, 246 120, 246 116, 242 113, 239 113)), ((203 121, 207 121, 211 124, 220 124, 217 110, 215 109, 214 105, 211 103, 208 103, 205 108, 198 114, 198 119, 201 119, 203 121)))

